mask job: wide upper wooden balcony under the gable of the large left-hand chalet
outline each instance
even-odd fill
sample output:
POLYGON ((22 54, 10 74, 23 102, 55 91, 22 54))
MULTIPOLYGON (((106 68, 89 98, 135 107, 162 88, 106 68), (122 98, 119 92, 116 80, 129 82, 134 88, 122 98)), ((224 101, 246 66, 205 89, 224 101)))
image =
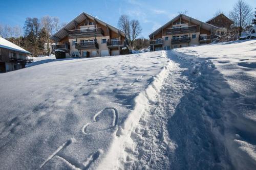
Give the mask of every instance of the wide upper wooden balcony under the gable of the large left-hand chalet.
POLYGON ((69 30, 68 34, 71 38, 104 36, 104 32, 101 28, 69 30))

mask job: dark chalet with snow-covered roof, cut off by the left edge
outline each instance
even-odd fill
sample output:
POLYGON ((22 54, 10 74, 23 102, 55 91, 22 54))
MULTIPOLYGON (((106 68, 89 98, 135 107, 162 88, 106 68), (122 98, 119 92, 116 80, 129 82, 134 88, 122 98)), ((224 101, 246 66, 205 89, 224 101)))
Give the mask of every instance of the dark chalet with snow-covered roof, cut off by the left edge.
POLYGON ((31 53, 0 37, 0 72, 25 68, 27 63, 33 62, 27 58, 28 55, 31 53))

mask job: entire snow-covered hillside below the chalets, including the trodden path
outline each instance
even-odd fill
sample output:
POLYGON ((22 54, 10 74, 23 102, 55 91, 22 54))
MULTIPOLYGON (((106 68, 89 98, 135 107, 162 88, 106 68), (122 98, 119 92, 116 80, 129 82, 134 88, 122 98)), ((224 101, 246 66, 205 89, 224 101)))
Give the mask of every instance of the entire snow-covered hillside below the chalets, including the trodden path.
POLYGON ((3 169, 253 169, 256 40, 0 75, 3 169))

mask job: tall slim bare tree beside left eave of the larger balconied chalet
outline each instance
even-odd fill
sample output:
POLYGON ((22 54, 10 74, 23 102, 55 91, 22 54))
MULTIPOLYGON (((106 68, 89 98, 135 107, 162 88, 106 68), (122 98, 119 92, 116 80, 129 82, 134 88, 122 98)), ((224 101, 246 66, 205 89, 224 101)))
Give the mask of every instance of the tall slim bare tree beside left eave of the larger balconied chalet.
POLYGON ((50 36, 53 30, 53 19, 50 16, 44 16, 41 18, 41 25, 46 31, 46 43, 47 43, 47 54, 51 54, 50 50, 50 36))

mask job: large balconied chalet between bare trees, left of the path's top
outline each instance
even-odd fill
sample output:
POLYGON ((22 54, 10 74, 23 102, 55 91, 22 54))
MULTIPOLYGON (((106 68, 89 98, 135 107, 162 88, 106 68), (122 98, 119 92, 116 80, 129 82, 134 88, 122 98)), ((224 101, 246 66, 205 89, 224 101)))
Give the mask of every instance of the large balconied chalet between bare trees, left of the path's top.
POLYGON ((87 13, 81 13, 50 37, 57 58, 121 55, 124 32, 87 13))

